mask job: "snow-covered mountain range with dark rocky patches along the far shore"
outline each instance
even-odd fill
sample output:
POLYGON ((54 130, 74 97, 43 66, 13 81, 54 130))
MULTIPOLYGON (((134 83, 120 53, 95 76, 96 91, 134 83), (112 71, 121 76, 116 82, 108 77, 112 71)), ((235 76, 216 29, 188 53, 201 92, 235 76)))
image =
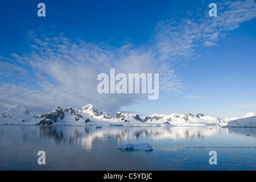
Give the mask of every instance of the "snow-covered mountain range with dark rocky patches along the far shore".
MULTIPOLYGON (((249 117, 251 113, 247 114, 249 117)), ((229 121, 220 118, 191 114, 153 114, 139 117, 138 114, 118 112, 109 117, 106 112, 89 104, 80 109, 56 106, 53 111, 34 115, 22 106, 0 102, 0 125, 71 125, 71 126, 226 126, 229 121)))

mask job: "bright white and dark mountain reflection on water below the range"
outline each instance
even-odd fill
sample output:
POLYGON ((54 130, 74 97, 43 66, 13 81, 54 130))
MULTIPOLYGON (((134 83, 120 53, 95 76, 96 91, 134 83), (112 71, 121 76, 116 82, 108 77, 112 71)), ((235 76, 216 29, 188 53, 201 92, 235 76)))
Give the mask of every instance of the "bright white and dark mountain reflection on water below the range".
POLYGON ((219 133, 221 127, 39 127, 40 137, 53 140, 54 144, 78 144, 91 148, 91 144, 102 138, 115 138, 118 141, 139 139, 150 136, 159 139, 188 139, 209 137, 219 133))

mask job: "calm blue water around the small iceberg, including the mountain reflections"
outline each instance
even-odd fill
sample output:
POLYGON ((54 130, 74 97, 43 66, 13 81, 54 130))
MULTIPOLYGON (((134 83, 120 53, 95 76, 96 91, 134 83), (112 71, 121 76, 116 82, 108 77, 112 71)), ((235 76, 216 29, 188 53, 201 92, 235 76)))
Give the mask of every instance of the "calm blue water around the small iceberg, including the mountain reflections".
POLYGON ((0 126, 0 170, 256 170, 256 128, 0 126))

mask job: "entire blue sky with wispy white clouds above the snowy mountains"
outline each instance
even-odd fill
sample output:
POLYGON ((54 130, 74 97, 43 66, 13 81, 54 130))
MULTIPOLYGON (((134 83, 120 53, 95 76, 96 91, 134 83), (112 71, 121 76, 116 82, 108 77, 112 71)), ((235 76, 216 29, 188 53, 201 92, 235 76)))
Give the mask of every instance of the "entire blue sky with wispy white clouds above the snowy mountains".
POLYGON ((39 113, 87 104, 110 115, 256 113, 255 17, 254 0, 0 1, 0 102, 39 113), (98 94, 110 68, 159 73, 158 100, 98 94))

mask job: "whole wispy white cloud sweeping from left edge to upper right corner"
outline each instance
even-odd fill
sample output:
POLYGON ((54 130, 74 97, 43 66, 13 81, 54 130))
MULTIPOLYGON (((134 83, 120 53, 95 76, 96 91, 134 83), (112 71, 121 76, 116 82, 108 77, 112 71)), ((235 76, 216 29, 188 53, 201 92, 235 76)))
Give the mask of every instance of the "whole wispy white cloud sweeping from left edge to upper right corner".
POLYGON ((31 31, 31 52, 11 53, 10 60, 0 57, 1 101, 45 109, 55 105, 81 107, 90 103, 113 111, 147 99, 144 94, 99 94, 97 75, 109 73, 110 68, 115 68, 117 73, 159 73, 160 91, 181 92, 186 87, 175 72, 175 65, 197 59, 200 57, 196 52, 198 47, 216 46, 228 31, 256 17, 253 0, 221 1, 219 5, 218 16, 214 18, 209 17, 207 9, 193 7, 197 19, 190 14, 189 18, 162 20, 155 27, 153 45, 127 43, 116 48, 104 43, 72 40, 63 34, 39 36, 31 31), (31 84, 3 81, 8 75, 25 78, 31 84))

